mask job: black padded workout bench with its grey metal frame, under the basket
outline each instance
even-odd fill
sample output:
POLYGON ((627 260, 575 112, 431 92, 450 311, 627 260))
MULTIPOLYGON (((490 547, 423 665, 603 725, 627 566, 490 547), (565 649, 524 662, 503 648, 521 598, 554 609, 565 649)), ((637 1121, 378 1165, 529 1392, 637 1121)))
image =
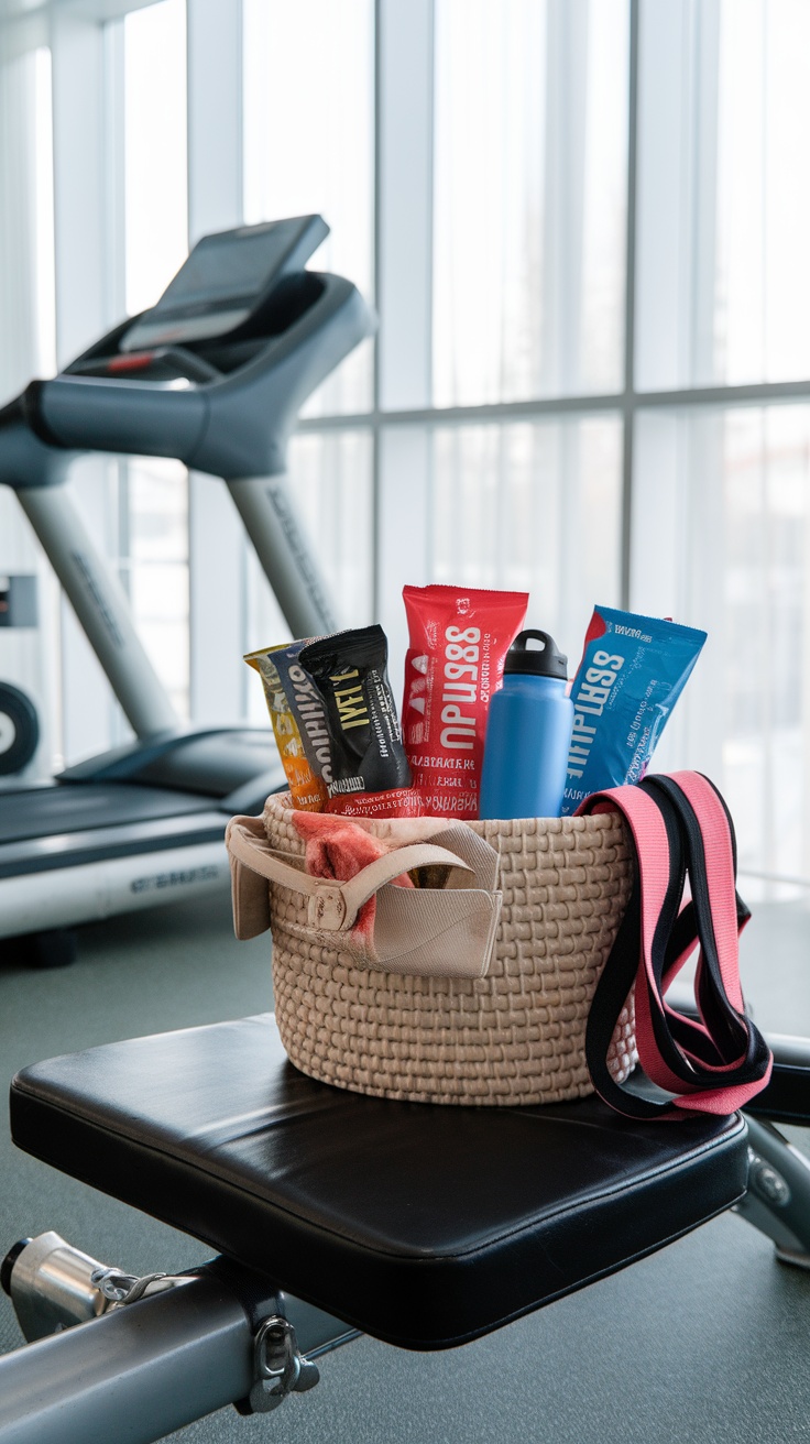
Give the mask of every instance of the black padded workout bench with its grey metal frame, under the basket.
POLYGON ((20 1148, 218 1258, 136 1278, 55 1233, 19 1240, 0 1272, 32 1341, 0 1359, 0 1444, 107 1444, 111 1419, 117 1441, 150 1444, 227 1404, 269 1412, 358 1331, 450 1349, 731 1207, 807 1266, 810 1164, 774 1121, 810 1122, 810 1041, 768 1043, 755 1115, 677 1128, 596 1097, 347 1093, 287 1063, 271 1015, 25 1069, 20 1148))

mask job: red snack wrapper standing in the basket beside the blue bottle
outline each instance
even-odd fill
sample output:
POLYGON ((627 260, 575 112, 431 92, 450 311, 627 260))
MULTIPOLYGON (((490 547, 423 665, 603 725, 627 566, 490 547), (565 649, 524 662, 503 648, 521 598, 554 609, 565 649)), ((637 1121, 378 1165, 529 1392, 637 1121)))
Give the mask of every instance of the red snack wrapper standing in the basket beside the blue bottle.
POLYGON ((489 697, 528 592, 406 586, 403 741, 427 817, 478 817, 489 697))

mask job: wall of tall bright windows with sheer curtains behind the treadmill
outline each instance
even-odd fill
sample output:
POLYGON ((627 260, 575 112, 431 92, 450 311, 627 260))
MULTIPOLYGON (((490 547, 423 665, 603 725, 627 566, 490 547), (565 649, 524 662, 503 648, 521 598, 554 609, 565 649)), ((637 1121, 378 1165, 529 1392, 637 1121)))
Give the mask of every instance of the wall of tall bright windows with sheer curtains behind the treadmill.
MULTIPOLYGON (((810 882, 807 4, 113 9, 51 0, 4 71, 39 157, 1 178, 6 394, 53 326, 66 360, 149 305, 189 234, 321 211, 313 264, 380 316, 289 452, 341 621, 384 622, 394 676, 406 580, 524 586, 572 661, 595 601, 705 625, 660 764, 718 778, 758 887, 810 882)), ((286 628, 221 488, 82 485, 179 710, 258 719, 238 654, 286 628)))

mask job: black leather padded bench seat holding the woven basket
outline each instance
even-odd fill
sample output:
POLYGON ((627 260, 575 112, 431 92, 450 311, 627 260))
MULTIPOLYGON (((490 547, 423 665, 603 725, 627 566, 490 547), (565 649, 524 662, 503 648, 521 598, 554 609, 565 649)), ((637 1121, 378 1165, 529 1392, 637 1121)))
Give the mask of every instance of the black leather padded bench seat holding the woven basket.
MULTIPOLYGON (((271 1015, 25 1069, 20 1148, 409 1349, 463 1343, 745 1191, 745 1125, 596 1099, 430 1108, 315 1083, 271 1015)), ((121 1261, 126 1264, 126 1261, 121 1261)))

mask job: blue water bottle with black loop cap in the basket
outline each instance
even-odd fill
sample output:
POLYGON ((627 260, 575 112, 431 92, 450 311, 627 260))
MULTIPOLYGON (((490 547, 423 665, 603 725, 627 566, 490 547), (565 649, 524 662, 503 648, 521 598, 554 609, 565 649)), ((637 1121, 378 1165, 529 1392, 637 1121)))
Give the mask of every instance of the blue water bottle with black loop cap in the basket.
POLYGON ((489 702, 479 817, 559 817, 573 729, 567 657, 549 632, 523 631, 489 702), (540 643, 531 650, 528 640, 540 643))

